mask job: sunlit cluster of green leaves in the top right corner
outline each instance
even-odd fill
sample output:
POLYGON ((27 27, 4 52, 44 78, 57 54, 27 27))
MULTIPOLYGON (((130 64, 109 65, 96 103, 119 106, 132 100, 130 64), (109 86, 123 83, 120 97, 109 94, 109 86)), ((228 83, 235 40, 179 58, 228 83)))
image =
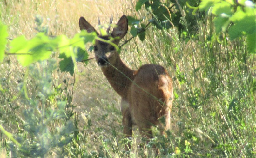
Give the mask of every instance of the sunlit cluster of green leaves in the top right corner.
POLYGON ((199 9, 215 15, 216 33, 228 33, 229 39, 245 36, 247 50, 256 53, 256 5, 252 1, 202 0, 199 9))

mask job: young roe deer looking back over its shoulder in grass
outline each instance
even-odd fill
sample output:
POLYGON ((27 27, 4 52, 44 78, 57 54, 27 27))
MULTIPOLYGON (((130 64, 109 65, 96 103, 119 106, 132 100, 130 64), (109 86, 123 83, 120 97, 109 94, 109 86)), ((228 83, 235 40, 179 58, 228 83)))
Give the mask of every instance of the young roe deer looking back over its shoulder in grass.
MULTIPOLYGON (((112 22, 112 20, 110 21, 112 22)), ((80 17, 79 27, 89 33, 96 32, 84 17, 80 17)), ((118 45, 127 30, 128 20, 123 15, 111 34, 102 36, 96 33, 99 38, 104 40, 115 38, 112 42, 118 45)), ((172 79, 166 69, 160 65, 145 64, 138 70, 131 70, 122 62, 114 46, 100 40, 95 41, 94 53, 108 82, 122 97, 121 112, 125 136, 131 137, 132 125, 138 125, 141 135, 148 138, 152 138, 151 128, 153 125, 159 124, 162 134, 165 130, 170 129, 173 87, 172 79), (162 116, 165 117, 164 123, 158 121, 162 116)), ((125 150, 130 148, 131 146, 128 144, 125 150)))

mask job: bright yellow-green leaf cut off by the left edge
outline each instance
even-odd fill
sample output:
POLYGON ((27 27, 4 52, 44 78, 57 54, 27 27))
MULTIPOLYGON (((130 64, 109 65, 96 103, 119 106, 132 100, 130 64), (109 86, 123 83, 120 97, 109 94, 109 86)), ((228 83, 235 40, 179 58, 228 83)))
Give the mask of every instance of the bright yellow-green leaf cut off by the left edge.
POLYGON ((7 44, 7 37, 7 26, 0 23, 0 62, 2 62, 4 58, 4 50, 7 44))

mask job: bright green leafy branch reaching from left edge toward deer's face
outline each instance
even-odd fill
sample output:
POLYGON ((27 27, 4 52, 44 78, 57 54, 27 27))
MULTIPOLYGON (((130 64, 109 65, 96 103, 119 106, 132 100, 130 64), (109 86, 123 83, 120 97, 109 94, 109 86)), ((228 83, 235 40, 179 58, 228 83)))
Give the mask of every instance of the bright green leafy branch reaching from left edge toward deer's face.
POLYGON ((87 33, 82 31, 69 39, 65 35, 49 37, 44 32, 37 33, 36 36, 27 40, 21 35, 13 40, 8 40, 7 26, 0 24, 0 61, 6 55, 16 55, 17 60, 23 66, 28 66, 33 62, 49 59, 52 52, 59 51, 59 62, 61 71, 67 71, 71 75, 74 73, 76 61, 86 60, 88 53, 84 49, 87 42, 93 42, 96 33, 87 33), (10 49, 5 50, 7 43, 10 49))

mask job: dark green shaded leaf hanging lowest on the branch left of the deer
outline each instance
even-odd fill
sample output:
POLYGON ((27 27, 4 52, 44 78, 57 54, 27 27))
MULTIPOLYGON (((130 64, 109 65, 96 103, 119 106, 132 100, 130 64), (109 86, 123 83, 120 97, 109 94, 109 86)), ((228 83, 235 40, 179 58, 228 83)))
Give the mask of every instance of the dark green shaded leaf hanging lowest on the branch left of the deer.
POLYGON ((63 59, 59 62, 59 65, 60 65, 60 70, 63 72, 63 71, 66 71, 66 72, 69 72, 70 75, 73 75, 74 74, 74 68, 75 68, 75 65, 74 65, 74 62, 72 60, 72 57, 66 57, 66 55, 63 53, 63 54, 60 54, 59 55, 59 58, 63 59))

